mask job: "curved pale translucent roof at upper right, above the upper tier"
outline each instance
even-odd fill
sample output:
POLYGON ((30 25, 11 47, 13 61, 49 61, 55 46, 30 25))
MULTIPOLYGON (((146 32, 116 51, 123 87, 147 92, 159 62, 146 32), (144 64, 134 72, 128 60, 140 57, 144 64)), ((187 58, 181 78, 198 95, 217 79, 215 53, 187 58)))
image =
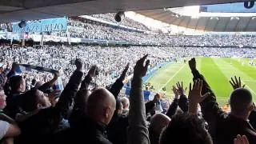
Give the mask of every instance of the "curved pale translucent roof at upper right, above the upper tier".
MULTIPOLYGON (((243 3, 242 3, 243 6, 243 3)), ((142 10, 138 14, 194 30, 217 32, 254 32, 256 13, 254 12, 202 12, 199 6, 178 7, 158 10, 142 10)), ((222 9, 220 9, 222 10, 222 9)), ((227 10, 227 9, 226 9, 227 10)))

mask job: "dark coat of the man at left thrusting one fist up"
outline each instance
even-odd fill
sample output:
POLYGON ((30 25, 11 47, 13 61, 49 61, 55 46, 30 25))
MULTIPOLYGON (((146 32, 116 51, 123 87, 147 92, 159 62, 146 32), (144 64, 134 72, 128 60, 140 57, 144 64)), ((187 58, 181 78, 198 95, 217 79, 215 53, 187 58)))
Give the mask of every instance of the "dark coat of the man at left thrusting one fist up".
POLYGON ((82 81, 83 73, 75 71, 70 78, 70 82, 59 98, 55 107, 40 110, 38 114, 34 114, 24 122, 19 122, 22 134, 18 137, 20 143, 44 143, 58 130, 58 126, 62 120, 62 115, 66 114, 70 109, 73 98, 78 91, 78 86, 82 81))

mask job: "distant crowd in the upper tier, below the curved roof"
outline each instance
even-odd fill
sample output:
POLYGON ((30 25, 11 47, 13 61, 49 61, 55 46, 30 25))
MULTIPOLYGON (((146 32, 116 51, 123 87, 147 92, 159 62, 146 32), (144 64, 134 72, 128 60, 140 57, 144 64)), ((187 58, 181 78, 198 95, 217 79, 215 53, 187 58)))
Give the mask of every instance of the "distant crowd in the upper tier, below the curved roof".
MULTIPOLYGON (((135 22, 133 26, 139 26, 135 22)), ((168 46, 256 46, 254 35, 242 34, 202 34, 202 35, 169 35, 163 33, 145 33, 126 30, 120 27, 94 22, 89 19, 69 18, 68 32, 71 38, 88 38, 122 42, 146 43, 149 45, 168 46)), ((54 36, 67 37, 66 32, 53 32, 54 36)))

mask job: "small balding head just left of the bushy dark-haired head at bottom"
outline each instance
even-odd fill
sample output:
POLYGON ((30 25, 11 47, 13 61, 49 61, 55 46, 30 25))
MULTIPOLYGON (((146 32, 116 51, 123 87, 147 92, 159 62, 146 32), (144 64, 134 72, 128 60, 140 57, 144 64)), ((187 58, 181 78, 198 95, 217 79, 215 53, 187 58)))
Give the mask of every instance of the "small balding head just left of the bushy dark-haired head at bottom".
POLYGON ((154 114, 150 119, 150 143, 158 144, 159 136, 162 132, 162 129, 168 125, 170 118, 165 114, 154 114))

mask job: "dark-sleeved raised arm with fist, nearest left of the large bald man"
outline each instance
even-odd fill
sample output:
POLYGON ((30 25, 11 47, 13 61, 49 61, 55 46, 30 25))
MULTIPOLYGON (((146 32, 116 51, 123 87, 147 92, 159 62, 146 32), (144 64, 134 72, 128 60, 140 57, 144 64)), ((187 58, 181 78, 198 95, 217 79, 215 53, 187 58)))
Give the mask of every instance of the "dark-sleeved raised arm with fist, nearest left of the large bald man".
POLYGON ((70 77, 70 81, 66 84, 66 87, 62 91, 58 103, 55 106, 59 111, 62 112, 62 114, 66 114, 68 112, 73 102, 73 98, 77 94, 78 87, 82 81, 82 62, 77 59, 75 61, 75 65, 77 69, 70 77))

